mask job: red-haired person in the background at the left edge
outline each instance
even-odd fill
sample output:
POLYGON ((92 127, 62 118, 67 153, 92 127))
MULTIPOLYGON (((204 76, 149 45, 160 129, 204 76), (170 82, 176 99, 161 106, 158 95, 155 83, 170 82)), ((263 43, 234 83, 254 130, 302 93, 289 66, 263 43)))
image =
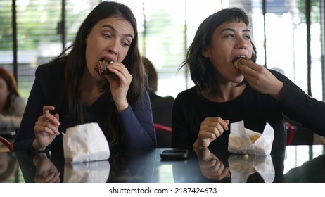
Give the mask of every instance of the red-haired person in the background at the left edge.
POLYGON ((0 68, 0 129, 18 129, 26 101, 18 92, 15 77, 0 68))

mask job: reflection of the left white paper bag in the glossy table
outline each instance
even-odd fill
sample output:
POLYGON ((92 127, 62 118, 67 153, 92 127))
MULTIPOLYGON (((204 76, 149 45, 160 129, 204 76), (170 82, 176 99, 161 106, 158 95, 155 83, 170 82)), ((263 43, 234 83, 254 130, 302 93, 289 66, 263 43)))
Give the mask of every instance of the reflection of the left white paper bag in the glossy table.
POLYGON ((106 183, 110 176, 108 160, 65 163, 64 183, 106 183))

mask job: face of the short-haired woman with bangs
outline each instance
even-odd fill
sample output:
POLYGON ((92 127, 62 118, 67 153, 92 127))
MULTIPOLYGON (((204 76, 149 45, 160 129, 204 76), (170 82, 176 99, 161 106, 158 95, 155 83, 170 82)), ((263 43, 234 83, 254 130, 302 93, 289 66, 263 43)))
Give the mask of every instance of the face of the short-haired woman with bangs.
POLYGON ((210 46, 203 49, 203 56, 209 58, 217 70, 220 83, 243 81, 241 70, 235 68, 232 60, 238 56, 251 58, 253 45, 250 30, 245 23, 224 23, 215 28, 210 46))

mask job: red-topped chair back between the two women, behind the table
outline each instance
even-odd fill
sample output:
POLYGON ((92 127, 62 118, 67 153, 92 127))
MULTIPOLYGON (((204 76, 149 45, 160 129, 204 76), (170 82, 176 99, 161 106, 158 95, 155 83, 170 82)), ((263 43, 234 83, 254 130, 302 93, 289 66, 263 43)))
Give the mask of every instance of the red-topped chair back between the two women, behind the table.
POLYGON ((172 147, 172 128, 166 125, 154 124, 157 148, 172 147))

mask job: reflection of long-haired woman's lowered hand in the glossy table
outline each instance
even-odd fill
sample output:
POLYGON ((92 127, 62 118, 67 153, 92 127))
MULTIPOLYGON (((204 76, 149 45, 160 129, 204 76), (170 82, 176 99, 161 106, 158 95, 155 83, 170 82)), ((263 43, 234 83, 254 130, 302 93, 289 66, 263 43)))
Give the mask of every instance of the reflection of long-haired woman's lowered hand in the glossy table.
POLYGON ((60 172, 56 166, 47 158, 46 153, 37 153, 33 158, 36 166, 35 182, 37 183, 59 183, 60 172))

